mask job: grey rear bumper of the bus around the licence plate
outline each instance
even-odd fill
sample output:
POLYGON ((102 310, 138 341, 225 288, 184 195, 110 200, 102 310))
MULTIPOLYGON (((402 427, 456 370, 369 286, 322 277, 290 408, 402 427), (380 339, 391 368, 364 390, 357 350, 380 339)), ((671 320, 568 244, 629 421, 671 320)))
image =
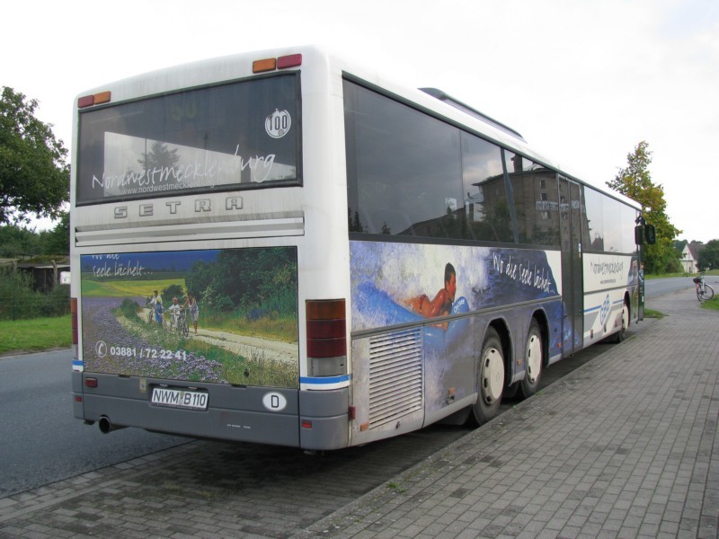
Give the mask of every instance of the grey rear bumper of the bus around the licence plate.
POLYGON ((226 384, 178 383, 152 378, 95 375, 72 376, 75 418, 87 422, 106 418, 117 427, 138 427, 189 437, 255 442, 303 449, 329 450, 349 445, 349 390, 299 391, 226 384), (89 388, 84 379, 97 380, 89 388), (158 406, 150 402, 152 387, 163 384, 208 393, 204 411, 158 406), (271 393, 284 401, 271 410, 271 393))

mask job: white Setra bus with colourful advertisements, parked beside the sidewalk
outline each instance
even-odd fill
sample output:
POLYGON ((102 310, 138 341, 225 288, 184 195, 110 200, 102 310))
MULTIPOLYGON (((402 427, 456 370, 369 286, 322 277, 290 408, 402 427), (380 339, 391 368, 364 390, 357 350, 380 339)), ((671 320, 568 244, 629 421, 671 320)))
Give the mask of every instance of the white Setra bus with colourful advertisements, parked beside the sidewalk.
POLYGON ((439 90, 297 48, 75 105, 74 413, 104 432, 483 423, 642 318, 641 208, 439 90))

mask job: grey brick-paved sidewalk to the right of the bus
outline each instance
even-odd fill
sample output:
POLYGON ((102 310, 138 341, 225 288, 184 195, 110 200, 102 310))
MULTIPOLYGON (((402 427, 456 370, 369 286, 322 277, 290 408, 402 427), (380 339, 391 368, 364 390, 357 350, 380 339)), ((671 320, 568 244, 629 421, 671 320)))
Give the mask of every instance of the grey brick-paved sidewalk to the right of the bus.
POLYGON ((719 534, 719 313, 669 314, 296 537, 719 534))

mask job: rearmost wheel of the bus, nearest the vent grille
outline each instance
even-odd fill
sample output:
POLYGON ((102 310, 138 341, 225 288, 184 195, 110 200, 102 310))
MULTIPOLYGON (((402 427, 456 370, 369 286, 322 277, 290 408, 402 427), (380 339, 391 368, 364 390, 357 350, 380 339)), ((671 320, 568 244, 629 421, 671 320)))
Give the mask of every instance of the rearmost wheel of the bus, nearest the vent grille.
POLYGON ((472 406, 477 424, 484 425, 499 413, 503 389, 502 341, 494 328, 488 328, 477 365, 477 402, 472 406))

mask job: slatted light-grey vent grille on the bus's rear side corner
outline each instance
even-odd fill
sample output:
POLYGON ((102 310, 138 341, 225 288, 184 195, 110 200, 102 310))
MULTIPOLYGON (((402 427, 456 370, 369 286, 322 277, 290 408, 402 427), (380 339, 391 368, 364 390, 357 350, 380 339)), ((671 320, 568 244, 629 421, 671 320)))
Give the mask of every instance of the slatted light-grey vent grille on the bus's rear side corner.
POLYGON ((422 411, 422 330, 369 340, 369 429, 422 411))

